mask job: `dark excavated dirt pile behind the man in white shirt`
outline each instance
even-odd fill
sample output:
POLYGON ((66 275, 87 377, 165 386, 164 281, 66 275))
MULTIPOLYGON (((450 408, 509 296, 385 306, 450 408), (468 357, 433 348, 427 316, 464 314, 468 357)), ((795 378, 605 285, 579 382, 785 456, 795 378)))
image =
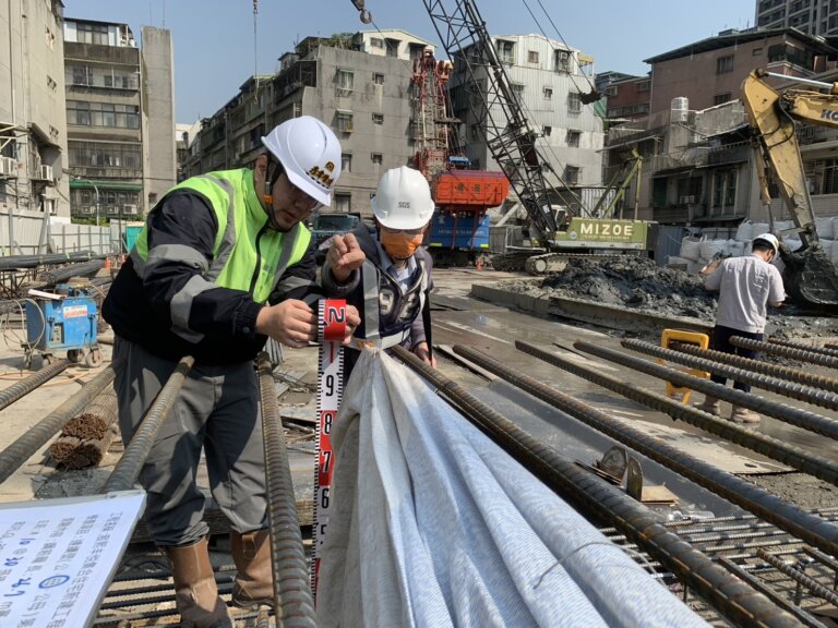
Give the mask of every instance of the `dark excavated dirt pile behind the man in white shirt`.
MULTIPOLYGON (((661 268, 651 259, 570 259, 567 267, 540 281, 507 281, 506 290, 549 297, 596 301, 607 305, 686 316, 713 323, 718 293, 704 288, 704 278, 682 270, 661 268)), ((838 336, 838 319, 805 315, 793 304, 769 310, 768 333, 778 338, 838 336)))

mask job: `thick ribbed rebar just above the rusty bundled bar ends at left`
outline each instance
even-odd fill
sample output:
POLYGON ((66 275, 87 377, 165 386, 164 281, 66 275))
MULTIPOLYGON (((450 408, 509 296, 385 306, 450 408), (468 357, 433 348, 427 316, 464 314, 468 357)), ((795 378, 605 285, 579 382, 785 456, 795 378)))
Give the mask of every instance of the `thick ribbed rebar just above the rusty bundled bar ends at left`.
POLYGON ((21 464, 26 462, 56 432, 79 414, 106 386, 113 382, 118 362, 108 364, 101 373, 87 382, 75 395, 52 410, 37 424, 0 452, 0 482, 5 482, 21 464))

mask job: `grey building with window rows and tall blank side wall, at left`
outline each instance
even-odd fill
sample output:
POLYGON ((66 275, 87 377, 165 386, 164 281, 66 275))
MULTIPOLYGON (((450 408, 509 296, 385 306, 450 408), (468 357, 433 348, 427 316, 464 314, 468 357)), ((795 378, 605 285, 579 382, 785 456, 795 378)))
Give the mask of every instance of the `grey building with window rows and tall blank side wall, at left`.
POLYGON ((141 218, 176 182, 170 33, 128 24, 63 23, 73 216, 141 218))

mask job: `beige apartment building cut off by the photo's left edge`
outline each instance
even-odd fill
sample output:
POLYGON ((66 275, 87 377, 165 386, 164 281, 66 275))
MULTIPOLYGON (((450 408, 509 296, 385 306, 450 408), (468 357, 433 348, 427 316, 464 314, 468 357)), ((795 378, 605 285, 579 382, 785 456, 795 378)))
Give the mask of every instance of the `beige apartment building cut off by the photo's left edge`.
POLYGON ((0 214, 70 215, 62 11, 59 0, 0 3, 0 214))

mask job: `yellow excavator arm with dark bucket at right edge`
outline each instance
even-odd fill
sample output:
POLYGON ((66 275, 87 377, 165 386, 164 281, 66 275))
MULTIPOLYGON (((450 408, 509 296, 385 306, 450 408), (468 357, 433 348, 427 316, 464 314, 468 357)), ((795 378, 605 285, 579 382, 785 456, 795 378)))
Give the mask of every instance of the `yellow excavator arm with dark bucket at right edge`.
POLYGON ((795 121, 838 129, 838 83, 754 70, 742 84, 742 101, 751 124, 763 202, 770 203, 770 176, 802 242, 797 251, 786 246, 780 250, 786 264, 786 290, 795 301, 838 305, 838 274, 815 231, 815 213, 794 132, 795 121), (797 87, 777 90, 766 83, 768 76, 828 93, 797 87))

